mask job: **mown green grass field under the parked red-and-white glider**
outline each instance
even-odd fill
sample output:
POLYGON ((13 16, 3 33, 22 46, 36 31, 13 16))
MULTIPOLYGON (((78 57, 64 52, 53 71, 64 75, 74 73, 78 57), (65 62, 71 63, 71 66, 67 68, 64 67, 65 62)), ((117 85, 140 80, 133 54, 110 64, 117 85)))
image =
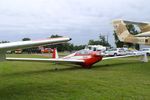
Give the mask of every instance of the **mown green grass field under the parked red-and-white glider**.
POLYGON ((0 100, 150 100, 150 62, 137 59, 106 60, 91 69, 54 63, 1 62, 0 100))

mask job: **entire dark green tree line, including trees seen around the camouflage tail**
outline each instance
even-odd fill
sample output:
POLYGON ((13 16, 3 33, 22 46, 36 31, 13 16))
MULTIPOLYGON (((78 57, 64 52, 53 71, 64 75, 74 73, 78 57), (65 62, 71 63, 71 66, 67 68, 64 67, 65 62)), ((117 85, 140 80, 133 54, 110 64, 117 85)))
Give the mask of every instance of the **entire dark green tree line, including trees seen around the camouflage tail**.
MULTIPOLYGON (((139 34, 139 32, 135 29, 134 25, 132 24, 128 24, 127 28, 129 30, 129 32, 133 35, 139 34)), ((114 35, 114 39, 115 39, 115 44, 116 47, 123 47, 123 46, 127 46, 127 47, 133 47, 136 49, 139 49, 139 44, 132 44, 132 43, 124 43, 121 42, 115 31, 113 33, 114 35)), ((59 38, 62 37, 60 35, 57 34, 53 34, 48 38, 59 38)), ((30 38, 23 38, 22 41, 30 41, 30 38)), ((1 41, 0 43, 9 43, 9 41, 1 41)), ((111 47, 110 43, 108 42, 108 38, 106 40, 106 37, 104 35, 99 35, 99 39, 97 40, 89 40, 88 45, 103 45, 106 47, 111 47)), ((81 50, 84 49, 86 45, 74 45, 73 43, 63 43, 63 44, 55 44, 55 45, 47 45, 44 46, 44 48, 57 48, 58 51, 77 51, 77 50, 81 50)), ((29 49, 23 49, 24 52, 40 52, 38 47, 34 47, 34 48, 29 48, 29 49)))

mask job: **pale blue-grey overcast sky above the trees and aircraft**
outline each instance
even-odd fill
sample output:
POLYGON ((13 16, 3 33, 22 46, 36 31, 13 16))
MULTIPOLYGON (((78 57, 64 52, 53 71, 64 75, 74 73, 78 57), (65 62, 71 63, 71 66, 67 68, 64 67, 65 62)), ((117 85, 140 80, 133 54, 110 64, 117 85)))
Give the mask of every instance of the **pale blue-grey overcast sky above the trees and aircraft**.
POLYGON ((0 0, 0 41, 58 34, 87 44, 100 34, 114 46, 112 20, 150 22, 149 0, 0 0))

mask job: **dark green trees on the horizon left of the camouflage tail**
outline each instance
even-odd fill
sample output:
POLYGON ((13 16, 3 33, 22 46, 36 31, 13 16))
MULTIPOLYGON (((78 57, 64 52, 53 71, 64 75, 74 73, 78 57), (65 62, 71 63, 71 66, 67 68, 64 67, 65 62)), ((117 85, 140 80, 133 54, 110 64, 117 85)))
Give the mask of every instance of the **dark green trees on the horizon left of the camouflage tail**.
MULTIPOLYGON (((60 35, 51 35, 48 38, 59 38, 62 37, 60 35)), ((22 41, 30 41, 31 38, 23 38, 22 41)), ((2 41, 1 43, 8 43, 9 41, 2 41)), ((110 46, 106 38, 102 35, 99 36, 98 40, 89 40, 88 45, 103 45, 103 46, 110 46)), ((84 49, 86 45, 74 45, 73 43, 63 43, 63 44, 55 44, 55 45, 47 45, 43 46, 44 48, 57 48, 58 51, 77 51, 84 49)), ((19 49, 19 48, 18 48, 19 49)), ((27 53, 40 53, 39 47, 27 48, 23 49, 23 52, 27 53)))

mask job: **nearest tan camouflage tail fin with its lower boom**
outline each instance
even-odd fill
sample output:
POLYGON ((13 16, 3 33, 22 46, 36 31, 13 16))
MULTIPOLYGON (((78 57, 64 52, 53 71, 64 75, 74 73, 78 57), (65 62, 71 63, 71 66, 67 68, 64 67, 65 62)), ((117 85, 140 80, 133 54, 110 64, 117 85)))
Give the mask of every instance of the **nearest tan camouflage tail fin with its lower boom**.
POLYGON ((138 43, 138 44, 146 44, 145 43, 145 37, 136 37, 128 31, 126 27, 127 21, 123 20, 114 20, 113 21, 113 26, 115 28, 115 32, 119 38, 120 41, 122 42, 128 42, 128 43, 138 43))

